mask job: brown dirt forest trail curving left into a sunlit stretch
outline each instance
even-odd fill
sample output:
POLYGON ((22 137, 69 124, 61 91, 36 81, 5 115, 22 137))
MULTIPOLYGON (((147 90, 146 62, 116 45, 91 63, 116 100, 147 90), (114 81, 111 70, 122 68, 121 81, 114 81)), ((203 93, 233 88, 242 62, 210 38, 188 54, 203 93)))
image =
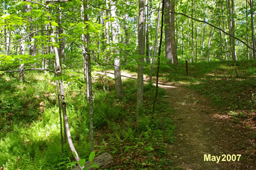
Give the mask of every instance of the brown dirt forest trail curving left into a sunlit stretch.
MULTIPOLYGON (((97 72, 104 74, 103 72, 97 72)), ((114 77, 113 71, 106 72, 114 77)), ((137 78, 136 73, 122 72, 122 78, 137 78)), ((147 82, 148 77, 144 76, 147 82)), ((217 107, 211 106, 208 99, 192 89, 159 81, 159 87, 166 91, 170 115, 175 125, 176 143, 168 151, 174 169, 254 169, 247 163, 245 153, 246 136, 241 129, 222 114, 217 107), (204 154, 220 156, 220 161, 204 161, 204 154), (239 161, 222 161, 222 155, 242 155, 239 161)), ((236 156, 238 159, 239 156, 236 156)))

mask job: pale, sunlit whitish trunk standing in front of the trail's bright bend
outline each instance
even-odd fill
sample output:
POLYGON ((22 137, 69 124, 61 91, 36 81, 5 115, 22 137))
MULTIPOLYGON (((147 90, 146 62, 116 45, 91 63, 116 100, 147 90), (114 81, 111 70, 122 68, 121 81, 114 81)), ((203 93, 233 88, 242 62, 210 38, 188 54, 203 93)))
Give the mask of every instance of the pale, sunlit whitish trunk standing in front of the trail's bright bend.
MULTIPOLYGON (((112 41, 114 44, 118 43, 117 40, 117 30, 118 22, 117 15, 115 11, 117 10, 116 2, 110 1, 111 5, 111 16, 115 19, 112 24, 112 41)), ((115 74, 115 93, 119 99, 123 98, 123 89, 122 89, 122 79, 121 79, 121 69, 120 69, 120 58, 119 58, 119 49, 115 47, 114 49, 115 58, 114 58, 114 74, 115 74)))

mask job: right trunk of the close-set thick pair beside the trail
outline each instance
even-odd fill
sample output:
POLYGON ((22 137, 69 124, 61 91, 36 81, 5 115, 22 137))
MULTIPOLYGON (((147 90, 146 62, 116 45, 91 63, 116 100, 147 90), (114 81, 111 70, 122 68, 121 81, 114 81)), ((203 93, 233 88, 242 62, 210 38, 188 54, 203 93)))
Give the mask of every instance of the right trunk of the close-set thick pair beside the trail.
MULTIPOLYGON (((170 11, 175 12, 175 0, 171 0, 170 11)), ((174 65, 177 65, 178 60, 177 60, 177 49, 176 49, 176 41, 175 41, 175 14, 174 13, 171 13, 170 31, 171 31, 172 60, 174 65)))

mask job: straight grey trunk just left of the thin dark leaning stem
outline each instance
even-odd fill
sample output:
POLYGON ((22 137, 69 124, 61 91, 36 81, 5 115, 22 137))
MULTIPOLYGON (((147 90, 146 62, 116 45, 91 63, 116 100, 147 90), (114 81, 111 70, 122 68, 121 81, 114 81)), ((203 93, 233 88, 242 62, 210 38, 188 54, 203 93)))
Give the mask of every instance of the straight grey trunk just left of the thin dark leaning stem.
POLYGON ((145 39, 143 35, 144 26, 144 1, 139 0, 139 28, 138 28, 138 54, 140 59, 138 61, 138 78, 137 78, 137 132, 140 132, 139 118, 143 111, 143 63, 144 63, 144 49, 145 39))

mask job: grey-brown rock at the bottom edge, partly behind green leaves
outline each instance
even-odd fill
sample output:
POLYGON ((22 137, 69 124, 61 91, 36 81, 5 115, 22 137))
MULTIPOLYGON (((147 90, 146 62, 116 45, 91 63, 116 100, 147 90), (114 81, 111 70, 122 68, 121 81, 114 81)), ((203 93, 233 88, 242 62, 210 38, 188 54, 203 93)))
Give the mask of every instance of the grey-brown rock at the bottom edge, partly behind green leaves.
MULTIPOLYGON (((89 167, 89 163, 90 161, 86 161, 85 167, 89 167)), ((111 168, 114 163, 114 159, 112 155, 108 153, 104 153, 96 156, 93 159, 93 163, 97 164, 100 167, 100 169, 111 168)), ((98 168, 89 168, 89 169, 98 169, 98 168)), ((73 170, 80 170, 80 168, 79 166, 76 166, 75 168, 73 168, 73 170)))

